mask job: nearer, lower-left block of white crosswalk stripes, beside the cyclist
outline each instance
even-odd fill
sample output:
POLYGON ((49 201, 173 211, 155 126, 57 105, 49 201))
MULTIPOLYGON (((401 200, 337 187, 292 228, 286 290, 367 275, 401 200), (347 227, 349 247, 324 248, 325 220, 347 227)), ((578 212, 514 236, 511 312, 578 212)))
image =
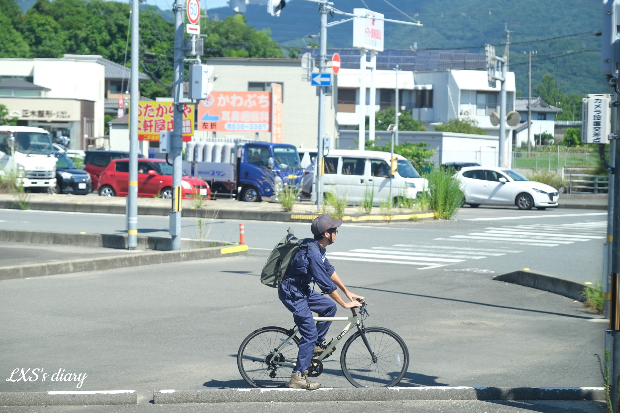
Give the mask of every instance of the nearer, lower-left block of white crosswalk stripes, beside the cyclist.
POLYGON ((434 244, 394 244, 391 247, 352 249, 348 252, 330 252, 330 260, 358 262, 383 262, 387 264, 417 265, 418 270, 428 270, 469 259, 484 259, 521 252, 514 249, 485 249, 440 246, 434 244))

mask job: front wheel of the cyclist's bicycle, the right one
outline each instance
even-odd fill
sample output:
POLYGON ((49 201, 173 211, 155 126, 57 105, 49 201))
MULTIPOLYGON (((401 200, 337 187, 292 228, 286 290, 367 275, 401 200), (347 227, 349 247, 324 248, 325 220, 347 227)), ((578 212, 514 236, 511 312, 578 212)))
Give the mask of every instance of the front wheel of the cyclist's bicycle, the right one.
POLYGON ((374 360, 358 330, 342 347, 342 373, 355 387, 396 386, 409 367, 409 350, 405 342, 398 334, 383 327, 368 327, 365 336, 374 360))

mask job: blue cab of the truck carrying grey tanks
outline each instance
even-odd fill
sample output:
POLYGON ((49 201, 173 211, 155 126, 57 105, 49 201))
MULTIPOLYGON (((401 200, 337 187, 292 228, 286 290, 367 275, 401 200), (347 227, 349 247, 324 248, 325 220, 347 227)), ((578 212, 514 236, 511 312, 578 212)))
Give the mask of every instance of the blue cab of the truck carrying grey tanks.
POLYGON ((291 144, 252 142, 241 147, 237 167, 239 200, 275 200, 280 185, 298 185, 303 168, 297 148, 291 144))

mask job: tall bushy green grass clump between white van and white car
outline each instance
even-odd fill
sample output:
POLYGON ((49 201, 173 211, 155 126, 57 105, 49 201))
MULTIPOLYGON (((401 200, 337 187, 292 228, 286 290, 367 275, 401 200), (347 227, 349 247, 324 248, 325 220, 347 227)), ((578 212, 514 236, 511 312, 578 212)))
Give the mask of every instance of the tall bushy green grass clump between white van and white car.
POLYGON ((426 191, 422 191, 420 203, 428 202, 436 220, 449 220, 463 205, 464 195, 459 180, 442 168, 433 168, 428 173, 427 179, 430 198, 427 200, 426 191))

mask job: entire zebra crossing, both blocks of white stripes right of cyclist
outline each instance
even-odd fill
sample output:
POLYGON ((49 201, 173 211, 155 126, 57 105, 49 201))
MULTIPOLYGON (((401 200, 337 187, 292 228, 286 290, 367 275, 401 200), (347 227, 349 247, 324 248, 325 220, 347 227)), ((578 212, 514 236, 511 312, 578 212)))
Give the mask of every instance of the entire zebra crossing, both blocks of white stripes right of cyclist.
POLYGON ((506 254, 518 254, 520 246, 556 247, 575 242, 606 238, 607 221, 588 221, 570 224, 522 224, 484 228, 484 232, 457 234, 433 241, 490 243, 492 248, 475 246, 448 246, 433 244, 394 244, 389 247, 358 248, 327 254, 330 260, 377 262, 384 264, 414 265, 418 270, 428 270, 446 265, 461 264, 467 260, 480 260, 506 254), (502 247, 505 245, 506 247, 502 247))

